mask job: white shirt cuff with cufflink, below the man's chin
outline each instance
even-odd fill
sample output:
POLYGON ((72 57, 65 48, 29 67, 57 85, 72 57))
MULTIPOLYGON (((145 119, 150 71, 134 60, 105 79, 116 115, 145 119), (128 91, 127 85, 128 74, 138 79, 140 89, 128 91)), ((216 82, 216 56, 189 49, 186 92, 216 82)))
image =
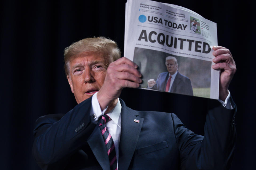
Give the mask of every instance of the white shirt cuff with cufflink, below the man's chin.
POLYGON ((106 110, 107 110, 107 108, 108 108, 108 107, 107 107, 106 109, 104 109, 103 111, 101 111, 101 107, 100 107, 99 101, 98 101, 98 99, 97 99, 97 93, 98 93, 98 92, 96 92, 96 93, 93 95, 92 99, 91 99, 91 106, 92 106, 93 109, 91 109, 90 115, 91 115, 92 120, 93 120, 94 122, 97 122, 97 121, 98 121, 98 118, 101 117, 101 116, 106 112, 106 110))

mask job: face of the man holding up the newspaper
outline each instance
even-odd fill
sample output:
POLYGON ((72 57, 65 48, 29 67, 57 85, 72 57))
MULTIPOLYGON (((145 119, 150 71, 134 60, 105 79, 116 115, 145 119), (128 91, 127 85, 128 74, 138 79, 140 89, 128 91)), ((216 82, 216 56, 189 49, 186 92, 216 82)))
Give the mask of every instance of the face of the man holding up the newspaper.
POLYGON ((81 52, 71 57, 67 79, 78 104, 99 91, 104 83, 108 64, 109 58, 92 52, 81 52))

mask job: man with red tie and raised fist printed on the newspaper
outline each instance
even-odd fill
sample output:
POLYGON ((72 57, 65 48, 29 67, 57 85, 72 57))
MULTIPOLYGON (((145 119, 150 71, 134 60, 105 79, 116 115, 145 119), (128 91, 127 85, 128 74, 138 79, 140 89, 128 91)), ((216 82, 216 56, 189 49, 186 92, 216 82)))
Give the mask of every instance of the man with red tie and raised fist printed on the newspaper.
POLYGON ((178 62, 175 57, 165 58, 165 65, 168 72, 158 75, 157 81, 149 79, 147 88, 193 96, 191 81, 178 71, 178 62))

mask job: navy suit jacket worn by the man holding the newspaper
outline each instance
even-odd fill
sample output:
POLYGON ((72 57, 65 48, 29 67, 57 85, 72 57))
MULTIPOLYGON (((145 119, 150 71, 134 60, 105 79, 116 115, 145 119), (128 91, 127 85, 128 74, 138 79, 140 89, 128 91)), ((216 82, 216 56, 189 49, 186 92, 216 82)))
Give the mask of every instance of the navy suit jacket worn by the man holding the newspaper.
MULTIPOLYGON (((121 111, 118 170, 226 169, 234 153, 235 109, 212 103, 205 137, 187 129, 173 113, 121 111), (139 123, 134 122, 139 120, 139 123)), ((33 155, 42 169, 110 169, 99 126, 90 117, 91 98, 66 114, 39 117, 33 155), (75 131, 80 127, 79 131, 75 131)))

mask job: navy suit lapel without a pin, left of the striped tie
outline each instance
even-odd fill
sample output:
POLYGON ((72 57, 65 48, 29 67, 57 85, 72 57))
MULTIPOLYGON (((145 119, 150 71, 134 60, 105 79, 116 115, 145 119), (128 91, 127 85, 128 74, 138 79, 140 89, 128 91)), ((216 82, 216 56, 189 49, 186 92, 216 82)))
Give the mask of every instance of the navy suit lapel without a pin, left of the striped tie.
POLYGON ((105 146, 99 126, 96 126, 93 133, 91 133, 90 137, 87 140, 87 143, 89 144, 95 158, 101 165, 102 169, 110 170, 110 163, 109 163, 109 157, 107 155, 107 148, 105 146))

